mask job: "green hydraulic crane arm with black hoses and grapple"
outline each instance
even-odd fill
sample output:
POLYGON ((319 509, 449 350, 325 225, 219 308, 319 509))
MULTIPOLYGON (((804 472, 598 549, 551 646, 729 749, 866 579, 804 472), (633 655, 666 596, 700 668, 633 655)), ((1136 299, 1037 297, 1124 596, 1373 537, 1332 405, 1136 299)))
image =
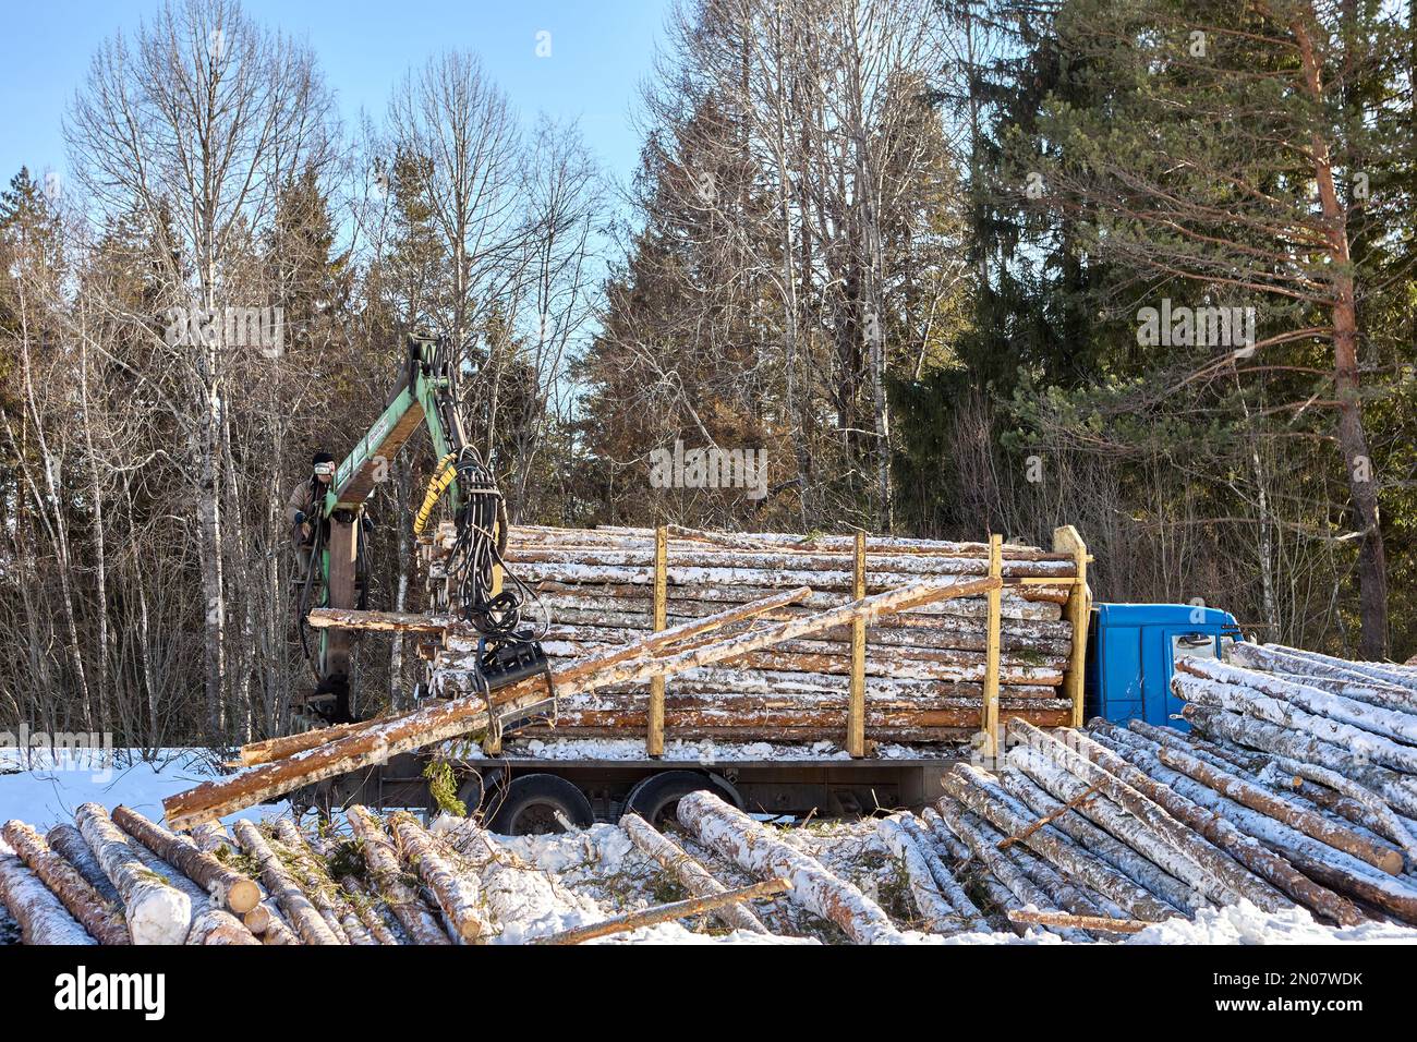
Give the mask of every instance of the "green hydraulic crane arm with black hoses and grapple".
MULTIPOLYGON (((404 379, 380 417, 336 468, 320 505, 320 516, 315 519, 316 543, 300 614, 303 625, 305 612, 316 607, 310 603, 316 570, 323 590, 319 607, 364 607, 364 503, 376 485, 388 478, 394 458, 418 425, 424 424, 438 468, 419 510, 419 525, 442 496, 458 533, 449 559, 456 597, 448 608, 482 637, 483 654, 479 662, 490 692, 544 669, 546 659, 531 631, 521 628, 520 598, 502 588, 502 551, 507 539, 506 503, 492 472, 468 439, 458 408, 456 383, 456 363, 444 342, 410 337, 404 379)), ((349 720, 349 631, 320 631, 315 672, 319 686, 310 709, 330 722, 349 720)))

